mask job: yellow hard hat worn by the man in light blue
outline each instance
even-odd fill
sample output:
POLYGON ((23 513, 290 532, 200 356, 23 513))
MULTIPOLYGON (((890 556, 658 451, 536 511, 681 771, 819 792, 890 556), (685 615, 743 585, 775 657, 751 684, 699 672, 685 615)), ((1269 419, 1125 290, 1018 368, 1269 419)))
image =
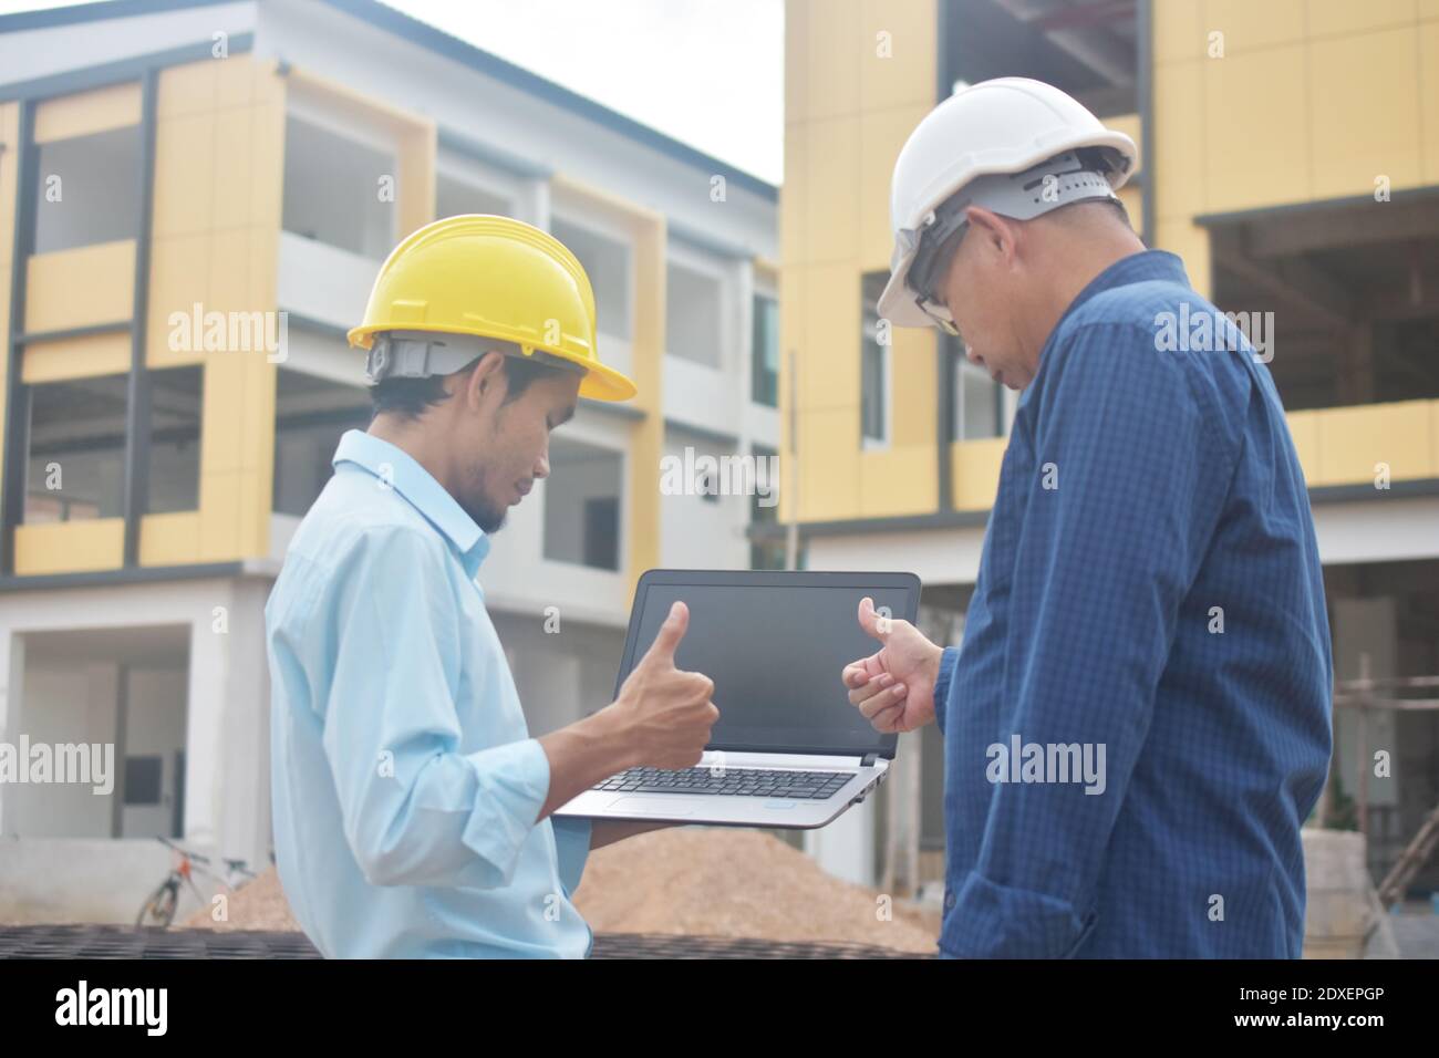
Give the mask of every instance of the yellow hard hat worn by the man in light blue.
MULTIPOLYGON (((636 393, 635 383, 602 364, 594 350, 594 292, 578 259, 548 232, 512 217, 445 217, 396 246, 380 266, 350 344, 370 350, 387 331, 514 343, 525 357, 538 351, 548 354, 538 360, 558 357, 583 369, 581 397, 629 400, 636 393)), ((463 366, 436 357, 430 370, 427 356, 407 361, 416 363, 420 367, 406 374, 463 366)))

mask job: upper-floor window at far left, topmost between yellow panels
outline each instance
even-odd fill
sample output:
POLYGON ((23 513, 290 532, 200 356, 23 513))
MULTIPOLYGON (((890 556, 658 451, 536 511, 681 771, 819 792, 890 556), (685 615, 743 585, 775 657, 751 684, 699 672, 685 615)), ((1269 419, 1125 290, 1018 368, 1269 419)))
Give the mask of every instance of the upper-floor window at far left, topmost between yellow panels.
POLYGON ((36 253, 140 233, 140 125, 37 147, 36 253))

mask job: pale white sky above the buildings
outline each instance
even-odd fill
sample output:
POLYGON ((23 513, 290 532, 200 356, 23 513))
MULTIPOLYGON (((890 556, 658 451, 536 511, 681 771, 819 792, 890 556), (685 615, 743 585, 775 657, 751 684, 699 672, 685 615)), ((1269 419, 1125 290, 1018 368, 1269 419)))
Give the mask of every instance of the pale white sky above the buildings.
MULTIPOLYGON (((406 14, 773 184, 783 0, 389 0, 406 14)), ((0 14, 65 0, 0 0, 0 14)))

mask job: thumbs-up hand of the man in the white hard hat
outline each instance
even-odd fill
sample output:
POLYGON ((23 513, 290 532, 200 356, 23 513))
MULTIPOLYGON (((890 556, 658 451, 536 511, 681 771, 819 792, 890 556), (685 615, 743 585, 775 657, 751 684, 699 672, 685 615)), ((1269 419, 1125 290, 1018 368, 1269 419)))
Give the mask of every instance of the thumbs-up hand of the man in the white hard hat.
POLYGON ((859 600, 859 626, 884 646, 845 666, 849 704, 885 734, 914 731, 931 723, 943 648, 925 639, 908 620, 875 613, 869 596, 859 600))

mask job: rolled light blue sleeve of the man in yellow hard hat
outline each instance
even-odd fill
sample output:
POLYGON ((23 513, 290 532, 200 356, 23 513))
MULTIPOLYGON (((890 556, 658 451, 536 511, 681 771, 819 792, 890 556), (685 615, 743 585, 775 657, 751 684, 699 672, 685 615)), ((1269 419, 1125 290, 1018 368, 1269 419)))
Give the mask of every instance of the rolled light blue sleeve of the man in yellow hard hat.
POLYGON ((459 753, 460 628, 436 541, 368 534, 328 609, 338 654, 324 747, 373 885, 508 885, 550 787, 534 738, 459 753))

